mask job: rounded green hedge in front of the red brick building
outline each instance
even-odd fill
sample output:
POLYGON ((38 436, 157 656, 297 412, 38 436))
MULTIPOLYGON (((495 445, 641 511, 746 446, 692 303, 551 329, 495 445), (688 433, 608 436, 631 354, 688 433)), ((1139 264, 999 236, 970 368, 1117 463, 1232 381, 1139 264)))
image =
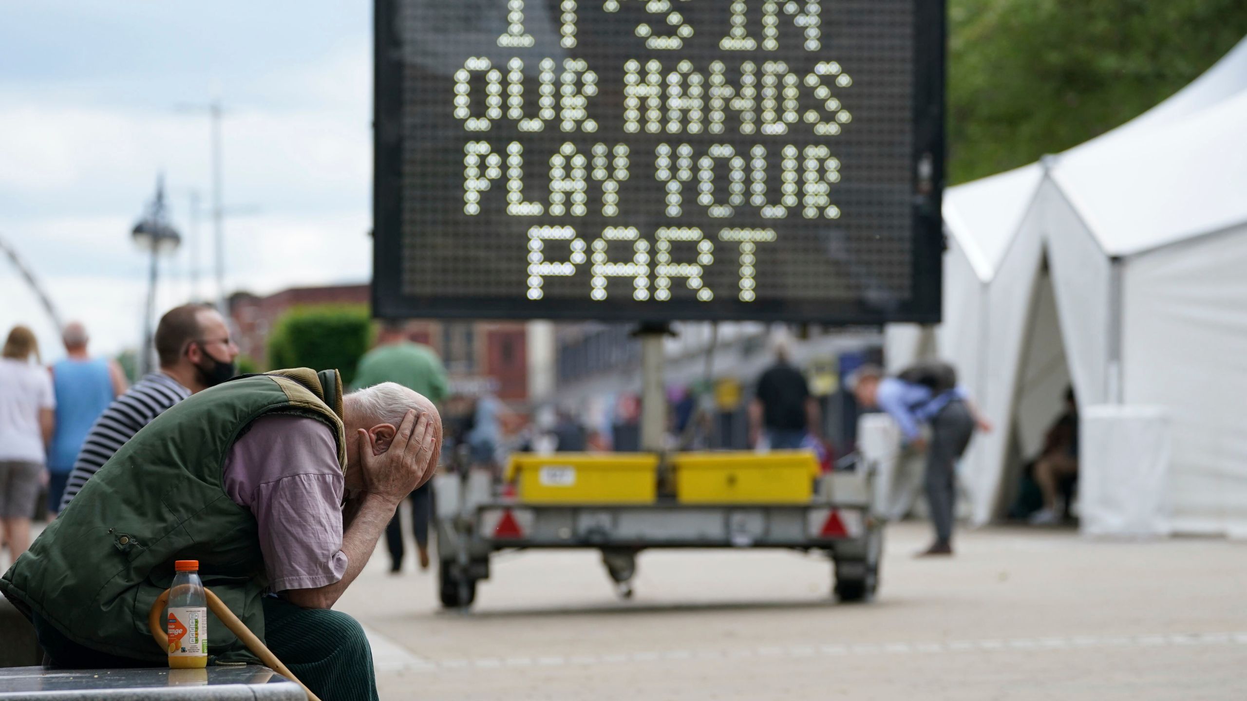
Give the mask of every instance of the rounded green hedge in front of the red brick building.
POLYGON ((373 322, 363 304, 294 307, 268 337, 271 368, 337 368, 342 383, 355 377, 359 358, 372 347, 373 322))

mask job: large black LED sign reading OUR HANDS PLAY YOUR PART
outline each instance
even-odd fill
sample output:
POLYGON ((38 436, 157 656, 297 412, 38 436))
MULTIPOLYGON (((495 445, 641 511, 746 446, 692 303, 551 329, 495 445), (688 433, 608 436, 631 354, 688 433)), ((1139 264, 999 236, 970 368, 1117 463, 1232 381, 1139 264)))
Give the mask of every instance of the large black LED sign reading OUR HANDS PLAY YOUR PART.
POLYGON ((378 0, 374 312, 936 321, 943 11, 378 0))

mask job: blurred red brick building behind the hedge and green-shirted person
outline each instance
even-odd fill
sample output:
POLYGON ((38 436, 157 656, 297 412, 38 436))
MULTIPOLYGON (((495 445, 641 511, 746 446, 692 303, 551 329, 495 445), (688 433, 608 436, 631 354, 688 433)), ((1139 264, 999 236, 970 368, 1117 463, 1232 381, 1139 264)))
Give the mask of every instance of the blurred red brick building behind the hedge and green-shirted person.
MULTIPOLYGON (((368 304, 368 284, 294 287, 258 297, 237 292, 229 316, 238 348, 261 367, 267 362, 268 334, 277 319, 296 306, 368 304)), ((527 333, 518 322, 443 322, 412 319, 408 338, 431 346, 450 373, 451 389, 468 394, 490 392, 508 400, 529 398, 527 333)))

